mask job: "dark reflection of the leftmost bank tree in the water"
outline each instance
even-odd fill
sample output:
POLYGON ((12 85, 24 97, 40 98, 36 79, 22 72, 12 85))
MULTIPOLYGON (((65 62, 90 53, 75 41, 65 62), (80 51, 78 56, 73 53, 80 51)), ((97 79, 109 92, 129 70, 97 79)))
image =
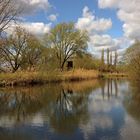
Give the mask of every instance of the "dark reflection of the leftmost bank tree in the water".
MULTIPOLYGON (((15 123, 24 121, 29 115, 41 108, 40 101, 26 90, 1 91, 0 113, 13 119, 15 123)), ((1 116, 0 115, 0 116, 1 116)))

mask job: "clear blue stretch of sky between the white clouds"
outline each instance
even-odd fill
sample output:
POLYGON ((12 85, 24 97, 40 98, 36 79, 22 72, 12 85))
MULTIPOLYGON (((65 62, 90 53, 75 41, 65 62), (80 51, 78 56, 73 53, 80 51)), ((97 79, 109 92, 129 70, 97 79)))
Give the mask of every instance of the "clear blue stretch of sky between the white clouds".
POLYGON ((82 10, 85 6, 94 12, 98 18, 111 18, 112 28, 108 30, 108 34, 112 37, 121 37, 123 35, 122 22, 118 19, 115 9, 100 9, 98 0, 51 0, 51 8, 47 11, 41 10, 32 16, 26 16, 26 21, 49 23, 47 16, 49 14, 57 14, 57 20, 53 25, 61 22, 77 22, 81 17, 82 10))

